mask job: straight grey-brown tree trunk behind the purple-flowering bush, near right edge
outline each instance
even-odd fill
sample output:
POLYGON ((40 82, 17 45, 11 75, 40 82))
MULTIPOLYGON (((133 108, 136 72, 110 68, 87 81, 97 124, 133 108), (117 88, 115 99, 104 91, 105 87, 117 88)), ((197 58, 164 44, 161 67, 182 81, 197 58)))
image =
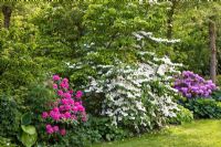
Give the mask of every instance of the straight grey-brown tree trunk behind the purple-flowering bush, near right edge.
POLYGON ((215 49, 215 23, 212 19, 209 21, 209 40, 210 40, 210 77, 215 83, 217 76, 217 49, 215 49))

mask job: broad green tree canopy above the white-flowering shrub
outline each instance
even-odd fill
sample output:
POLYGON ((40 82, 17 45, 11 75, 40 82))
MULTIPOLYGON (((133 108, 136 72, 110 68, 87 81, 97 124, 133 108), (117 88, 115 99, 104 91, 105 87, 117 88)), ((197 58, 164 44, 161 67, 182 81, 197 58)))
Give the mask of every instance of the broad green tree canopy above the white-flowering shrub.
MULTIPOLYGON (((134 48, 137 41, 131 33, 145 30, 156 32, 155 35, 164 34, 161 25, 166 21, 166 7, 167 3, 151 6, 148 2, 139 4, 124 1, 45 4, 32 19, 32 23, 40 29, 40 36, 44 39, 39 39, 40 49, 34 52, 48 59, 74 63, 93 60, 95 64, 113 64, 114 59, 137 62, 137 49, 134 48), (48 20, 50 23, 45 23, 48 20), (93 51, 96 54, 87 54, 93 51)), ((155 42, 149 40, 144 45, 149 51, 156 48, 155 42)), ((160 44, 157 53, 165 52, 168 52, 167 45, 160 44)), ((90 65, 74 74, 69 70, 60 72, 71 77, 75 86, 86 85, 87 76, 96 74, 90 65)))

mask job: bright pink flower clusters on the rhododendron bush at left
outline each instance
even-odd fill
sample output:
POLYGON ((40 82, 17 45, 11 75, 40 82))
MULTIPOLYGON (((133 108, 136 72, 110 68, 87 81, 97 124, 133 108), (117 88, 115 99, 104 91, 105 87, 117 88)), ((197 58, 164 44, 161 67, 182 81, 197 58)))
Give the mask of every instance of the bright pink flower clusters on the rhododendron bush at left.
POLYGON ((59 75, 53 76, 53 88, 59 98, 51 104, 51 111, 42 113, 42 118, 48 122, 45 129, 49 135, 60 134, 64 136, 67 124, 86 122, 86 112, 81 99, 83 92, 74 93, 70 88, 69 80, 61 78, 59 75))

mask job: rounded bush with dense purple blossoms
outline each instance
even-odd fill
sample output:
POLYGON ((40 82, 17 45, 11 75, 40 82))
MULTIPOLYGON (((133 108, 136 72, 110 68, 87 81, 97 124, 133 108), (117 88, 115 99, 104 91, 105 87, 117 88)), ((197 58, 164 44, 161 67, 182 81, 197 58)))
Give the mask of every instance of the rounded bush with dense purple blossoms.
POLYGON ((175 81, 177 88, 183 96, 190 97, 209 97, 212 91, 217 88, 211 80, 206 81, 198 74, 190 71, 183 71, 175 81))

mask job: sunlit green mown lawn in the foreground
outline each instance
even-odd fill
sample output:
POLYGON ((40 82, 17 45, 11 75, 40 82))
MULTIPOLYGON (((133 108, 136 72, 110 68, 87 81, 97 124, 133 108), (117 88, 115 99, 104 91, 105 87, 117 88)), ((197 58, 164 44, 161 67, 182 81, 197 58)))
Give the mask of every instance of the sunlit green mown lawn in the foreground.
POLYGON ((92 147, 221 147, 221 120, 196 120, 156 134, 92 147))

